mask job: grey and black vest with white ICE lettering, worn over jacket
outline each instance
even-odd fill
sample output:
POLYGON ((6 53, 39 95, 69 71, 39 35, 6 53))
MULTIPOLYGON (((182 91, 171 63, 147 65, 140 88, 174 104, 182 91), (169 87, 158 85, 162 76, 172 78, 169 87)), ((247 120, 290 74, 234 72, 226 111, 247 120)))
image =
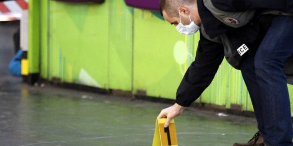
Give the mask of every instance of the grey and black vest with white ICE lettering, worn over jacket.
MULTIPOLYGON (((211 14, 213 14, 214 17, 216 17, 225 25, 230 26, 232 28, 239 28, 239 27, 245 26, 248 23, 250 23, 256 17, 256 15, 261 15, 261 14, 293 16, 293 14, 284 13, 284 12, 276 11, 276 10, 266 10, 266 11, 262 11, 260 14, 256 14, 255 10, 244 11, 244 12, 226 12, 214 7, 211 0, 203 0, 203 2, 204 2, 204 6, 211 12, 211 14)), ((223 44, 224 54, 225 54, 225 58, 227 62, 234 68, 239 69, 238 67, 243 58, 243 54, 245 54, 246 51, 248 50, 248 48, 246 48, 247 46, 245 45, 245 43, 243 43, 243 45, 241 46, 238 46, 239 48, 234 47, 225 33, 222 34, 221 36, 211 39, 205 32, 204 26, 202 24, 201 24, 201 35, 212 42, 223 44)), ((287 76, 288 83, 293 84, 293 55, 289 57, 288 60, 285 62, 284 68, 285 68, 284 72, 287 76)))

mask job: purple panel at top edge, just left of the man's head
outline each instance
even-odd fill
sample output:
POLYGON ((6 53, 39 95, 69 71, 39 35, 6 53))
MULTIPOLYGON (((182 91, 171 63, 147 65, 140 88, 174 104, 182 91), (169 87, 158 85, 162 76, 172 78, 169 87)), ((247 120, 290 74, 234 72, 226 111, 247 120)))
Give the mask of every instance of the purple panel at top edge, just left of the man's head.
POLYGON ((125 0, 125 3, 131 7, 158 11, 160 10, 160 0, 125 0))

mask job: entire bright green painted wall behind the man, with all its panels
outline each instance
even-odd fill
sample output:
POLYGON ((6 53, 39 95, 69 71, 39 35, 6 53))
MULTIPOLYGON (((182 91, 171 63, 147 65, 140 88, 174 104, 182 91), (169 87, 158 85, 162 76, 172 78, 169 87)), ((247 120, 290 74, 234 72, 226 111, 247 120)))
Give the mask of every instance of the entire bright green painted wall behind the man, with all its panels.
MULTIPOLYGON (((124 1, 42 1, 40 6, 42 78, 175 99, 195 58, 198 34, 180 35, 158 12, 133 9, 124 1)), ((291 85, 289 91, 293 95, 291 85)), ((196 102, 253 110, 240 71, 225 60, 196 102)))

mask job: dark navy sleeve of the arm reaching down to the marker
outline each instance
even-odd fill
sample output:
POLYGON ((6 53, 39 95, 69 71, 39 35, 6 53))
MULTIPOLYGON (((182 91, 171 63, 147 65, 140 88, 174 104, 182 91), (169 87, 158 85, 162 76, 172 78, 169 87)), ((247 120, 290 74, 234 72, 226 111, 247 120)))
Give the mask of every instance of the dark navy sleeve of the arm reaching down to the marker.
POLYGON ((211 42, 201 35, 195 61, 186 71, 178 87, 176 103, 189 107, 211 84, 223 58, 223 45, 211 42))

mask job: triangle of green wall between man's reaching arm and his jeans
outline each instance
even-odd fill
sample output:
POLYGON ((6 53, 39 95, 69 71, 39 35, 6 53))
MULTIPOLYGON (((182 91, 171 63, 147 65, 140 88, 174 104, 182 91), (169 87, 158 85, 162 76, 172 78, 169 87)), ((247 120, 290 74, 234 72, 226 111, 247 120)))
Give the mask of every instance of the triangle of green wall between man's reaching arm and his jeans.
POLYGON ((231 67, 226 60, 221 64, 211 85, 202 94, 201 101, 227 108, 230 108, 230 104, 237 104, 243 105, 243 110, 252 109, 240 71, 231 67))

